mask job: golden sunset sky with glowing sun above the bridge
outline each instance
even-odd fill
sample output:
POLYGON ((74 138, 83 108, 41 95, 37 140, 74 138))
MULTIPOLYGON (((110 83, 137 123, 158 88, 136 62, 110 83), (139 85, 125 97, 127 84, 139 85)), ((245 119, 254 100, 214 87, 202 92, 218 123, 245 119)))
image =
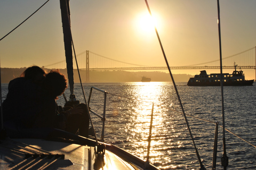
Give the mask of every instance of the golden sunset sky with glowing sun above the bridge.
MULTIPOLYGON (((45 2, 1 0, 0 38, 45 2)), ((148 0, 148 3, 171 66, 219 59, 217 1, 148 0)), ((255 7, 255 0, 220 1, 223 57, 256 46, 255 7)), ((90 50, 127 63, 165 66, 154 28, 145 27, 148 25, 144 23, 148 15, 145 1, 71 0, 70 11, 77 54, 90 50)), ((0 41, 1 67, 44 66, 64 60, 64 55, 57 0, 49 1, 0 41)), ((195 74, 199 70, 173 72, 195 74)), ((255 79, 255 71, 244 72, 248 79, 255 79)))

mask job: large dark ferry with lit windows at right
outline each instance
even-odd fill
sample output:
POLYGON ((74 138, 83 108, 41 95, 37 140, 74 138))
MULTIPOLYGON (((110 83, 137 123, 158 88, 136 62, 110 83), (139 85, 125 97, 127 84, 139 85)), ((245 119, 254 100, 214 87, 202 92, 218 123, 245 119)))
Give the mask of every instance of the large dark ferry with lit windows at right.
MULTIPOLYGON (((245 80, 243 71, 236 71, 236 63, 234 63, 235 71, 232 74, 223 73, 223 86, 252 86, 254 80, 245 80)), ((220 74, 207 74, 205 70, 199 75, 190 78, 187 86, 220 86, 220 74)))

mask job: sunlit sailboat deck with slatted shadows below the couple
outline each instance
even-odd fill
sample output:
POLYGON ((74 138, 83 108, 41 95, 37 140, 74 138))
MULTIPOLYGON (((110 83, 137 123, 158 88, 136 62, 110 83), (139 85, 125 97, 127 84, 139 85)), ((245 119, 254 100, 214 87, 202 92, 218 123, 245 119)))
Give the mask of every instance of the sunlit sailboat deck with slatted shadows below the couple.
MULTIPOLYGON (((0 148, 1 169, 94 169, 94 147, 42 139, 15 139, 4 140, 0 148)), ((103 169, 141 169, 107 150, 104 159, 103 169)))

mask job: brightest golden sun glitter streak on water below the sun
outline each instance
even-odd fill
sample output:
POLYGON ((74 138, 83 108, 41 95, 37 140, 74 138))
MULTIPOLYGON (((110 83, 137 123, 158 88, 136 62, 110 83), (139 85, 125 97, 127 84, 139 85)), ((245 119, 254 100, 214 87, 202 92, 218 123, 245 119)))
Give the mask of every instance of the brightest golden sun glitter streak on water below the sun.
MULTIPOLYGON (((134 89, 132 92, 133 99, 137 101, 137 105, 133 106, 131 113, 131 122, 126 124, 126 132, 130 132, 132 137, 127 140, 133 143, 137 155, 140 157, 146 157, 147 146, 148 146, 148 135, 150 126, 150 116, 152 112, 152 106, 154 103, 154 120, 151 137, 151 149, 150 149, 150 160, 153 162, 159 161, 159 156, 163 152, 159 152, 159 146, 166 142, 165 134, 173 129, 170 122, 166 121, 165 112, 168 111, 166 107, 163 107, 166 100, 163 100, 165 89, 162 88, 162 82, 136 82, 133 84, 134 89), (164 129, 163 124, 170 124, 170 129, 164 129), (157 149, 156 149, 157 148, 157 149)), ((169 89, 170 90, 170 89, 169 89)), ((167 96, 169 98, 169 96, 167 96)), ((167 103, 166 103, 167 104, 167 103)), ((172 103, 167 106, 172 106, 172 103)), ((166 148, 162 148, 165 150, 166 148)))

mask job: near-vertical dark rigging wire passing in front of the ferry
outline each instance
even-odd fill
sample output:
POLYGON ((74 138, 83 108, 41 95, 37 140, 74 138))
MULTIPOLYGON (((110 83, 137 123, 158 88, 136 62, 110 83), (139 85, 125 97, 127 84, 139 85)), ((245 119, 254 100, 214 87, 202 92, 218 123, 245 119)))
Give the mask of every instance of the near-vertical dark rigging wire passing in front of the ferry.
POLYGON ((220 84, 221 84, 222 128, 223 128, 223 155, 221 157, 221 165, 226 170, 227 166, 228 166, 228 156, 227 156, 227 152, 226 152, 226 138, 225 138, 225 109, 224 109, 223 80, 222 80, 223 73, 222 73, 220 3, 219 3, 219 0, 217 0, 217 5, 218 5, 218 30, 219 30, 219 49, 220 49, 220 84))

